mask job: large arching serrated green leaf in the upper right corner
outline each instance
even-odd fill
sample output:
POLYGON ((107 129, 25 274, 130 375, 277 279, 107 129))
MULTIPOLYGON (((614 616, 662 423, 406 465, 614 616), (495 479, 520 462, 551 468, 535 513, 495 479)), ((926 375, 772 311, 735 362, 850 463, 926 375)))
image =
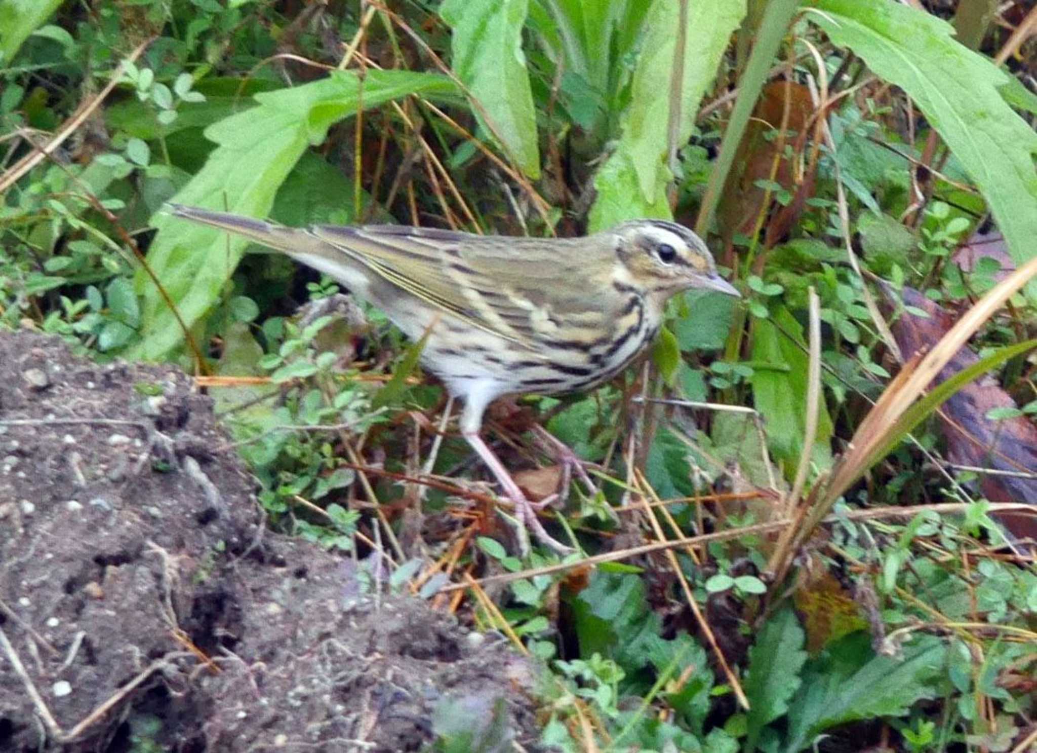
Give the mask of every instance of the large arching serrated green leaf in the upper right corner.
MULTIPOLYGON (((893 0, 811 0, 810 19, 925 113, 982 192, 1012 258, 1037 253, 1037 134, 1005 102, 1008 76, 952 38, 953 27, 893 0)), ((1037 283, 1028 286, 1037 296, 1037 283)))

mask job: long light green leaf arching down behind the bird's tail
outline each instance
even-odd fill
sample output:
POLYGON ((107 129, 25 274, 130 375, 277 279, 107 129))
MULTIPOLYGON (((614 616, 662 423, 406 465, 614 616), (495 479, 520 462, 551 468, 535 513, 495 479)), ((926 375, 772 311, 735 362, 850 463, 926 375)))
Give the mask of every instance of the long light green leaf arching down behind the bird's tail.
MULTIPOLYGON (((306 148, 324 141, 333 123, 357 112, 360 85, 352 72, 336 72, 310 84, 256 94, 257 107, 205 130, 219 146, 174 200, 265 217, 306 148)), ((411 93, 457 93, 444 76, 410 71, 368 71, 363 87, 364 108, 411 93)), ((352 195, 340 198, 342 206, 353 204, 352 195)), ((248 242, 162 213, 152 224, 159 232, 148 249, 148 263, 191 327, 219 300, 248 242)), ((137 289, 144 296, 144 339, 130 355, 160 359, 180 343, 184 334, 149 278, 140 274, 137 289)))

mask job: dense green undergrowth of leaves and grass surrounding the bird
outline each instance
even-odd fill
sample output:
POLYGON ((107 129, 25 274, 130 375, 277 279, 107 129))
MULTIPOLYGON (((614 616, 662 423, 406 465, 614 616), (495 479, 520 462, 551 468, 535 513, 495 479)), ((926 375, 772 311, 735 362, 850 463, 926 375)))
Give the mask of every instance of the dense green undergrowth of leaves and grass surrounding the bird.
POLYGON ((1029 750, 1037 48, 1026 3, 980 4, 0 0, 0 325, 192 370, 271 525, 380 548, 391 588, 506 583, 459 610, 550 668, 545 745, 1029 750), (421 343, 167 200, 675 219, 745 299, 689 292, 645 368, 492 412, 532 494, 569 481, 534 423, 592 464, 544 518, 580 554, 524 561, 421 343))

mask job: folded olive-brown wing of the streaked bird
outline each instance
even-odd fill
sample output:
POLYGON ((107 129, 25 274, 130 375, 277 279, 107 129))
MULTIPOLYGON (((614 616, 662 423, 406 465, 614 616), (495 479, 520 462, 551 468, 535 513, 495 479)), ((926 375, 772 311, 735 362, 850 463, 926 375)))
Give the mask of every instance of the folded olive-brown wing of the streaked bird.
MULTIPOLYGON (((593 271, 609 256, 592 244, 477 236, 402 225, 317 225, 309 231, 373 273, 479 329, 536 348, 565 339, 577 317, 588 333, 609 315, 593 271), (601 258, 598 258, 598 257, 601 258)), ((600 276, 600 275, 597 275, 600 276)))

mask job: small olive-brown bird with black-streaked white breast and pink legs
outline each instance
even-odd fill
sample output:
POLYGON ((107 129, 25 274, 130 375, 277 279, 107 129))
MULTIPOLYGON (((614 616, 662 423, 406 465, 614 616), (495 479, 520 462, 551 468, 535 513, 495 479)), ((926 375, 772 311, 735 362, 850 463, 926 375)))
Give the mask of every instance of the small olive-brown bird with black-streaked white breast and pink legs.
POLYGON ((500 397, 584 391, 610 381, 652 342, 675 294, 740 297, 702 239, 665 220, 539 239, 407 225, 287 227, 167 206, 174 217, 243 235, 327 274, 411 340, 423 338, 422 365, 464 401, 460 433, 515 505, 524 554, 526 526, 556 552, 572 550, 543 529, 480 436, 486 408, 500 397))

